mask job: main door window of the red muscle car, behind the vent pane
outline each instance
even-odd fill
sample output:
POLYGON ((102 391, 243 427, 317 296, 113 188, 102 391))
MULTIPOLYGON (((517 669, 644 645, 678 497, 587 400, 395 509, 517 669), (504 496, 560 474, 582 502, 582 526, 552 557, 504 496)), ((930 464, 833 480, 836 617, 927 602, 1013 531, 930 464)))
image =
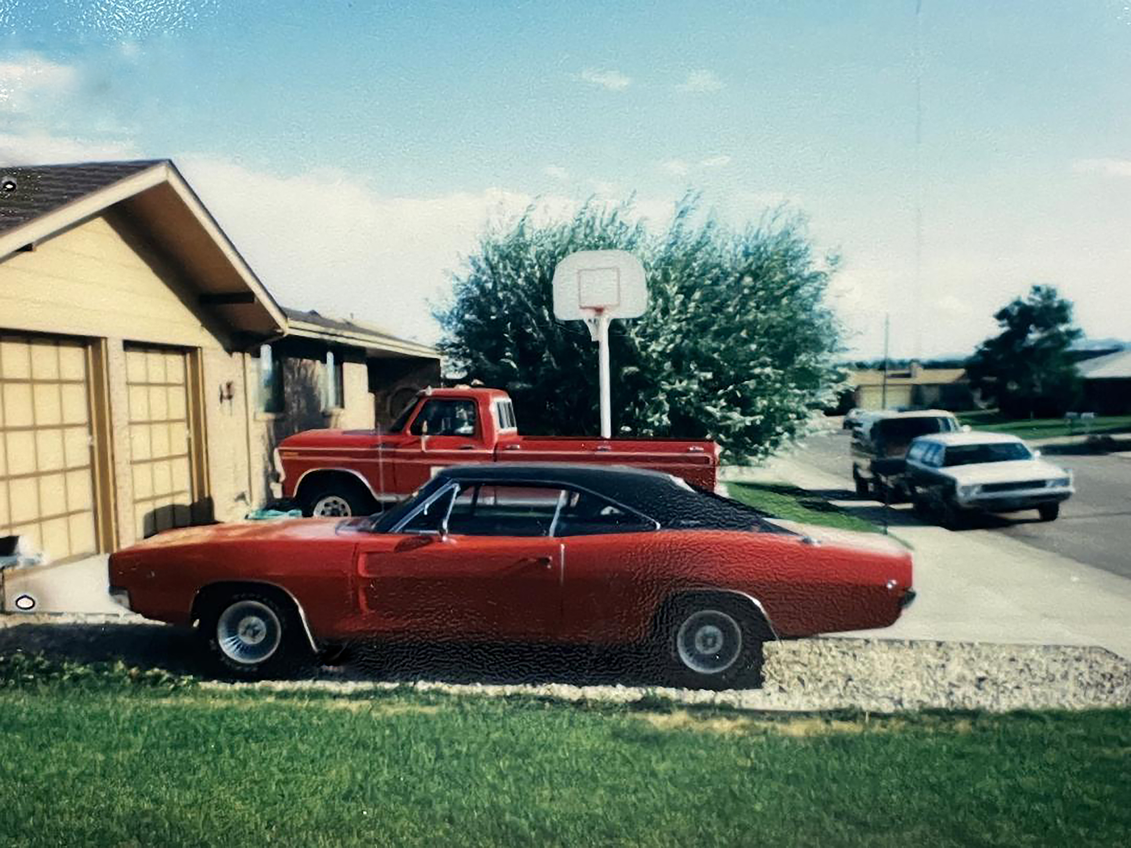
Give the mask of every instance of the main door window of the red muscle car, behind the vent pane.
POLYGON ((465 536, 550 536, 562 490, 474 483, 460 490, 448 531, 465 536))

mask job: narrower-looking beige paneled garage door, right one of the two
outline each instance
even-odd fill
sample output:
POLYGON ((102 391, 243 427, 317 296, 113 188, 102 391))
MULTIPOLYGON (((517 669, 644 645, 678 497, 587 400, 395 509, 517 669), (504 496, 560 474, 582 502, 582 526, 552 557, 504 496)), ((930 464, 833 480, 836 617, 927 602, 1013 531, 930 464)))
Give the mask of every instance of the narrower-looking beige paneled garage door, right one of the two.
POLYGON ((192 431, 189 354, 126 348, 130 468, 138 538, 192 523, 192 431))

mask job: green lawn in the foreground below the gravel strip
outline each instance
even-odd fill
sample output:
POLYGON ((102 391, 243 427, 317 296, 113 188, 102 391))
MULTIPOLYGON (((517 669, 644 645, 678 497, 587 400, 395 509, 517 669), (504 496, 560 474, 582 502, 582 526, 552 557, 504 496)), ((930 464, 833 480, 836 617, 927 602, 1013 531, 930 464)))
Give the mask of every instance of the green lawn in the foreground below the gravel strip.
POLYGON ((1131 843, 1131 710, 0 687, 10 845, 1131 843))

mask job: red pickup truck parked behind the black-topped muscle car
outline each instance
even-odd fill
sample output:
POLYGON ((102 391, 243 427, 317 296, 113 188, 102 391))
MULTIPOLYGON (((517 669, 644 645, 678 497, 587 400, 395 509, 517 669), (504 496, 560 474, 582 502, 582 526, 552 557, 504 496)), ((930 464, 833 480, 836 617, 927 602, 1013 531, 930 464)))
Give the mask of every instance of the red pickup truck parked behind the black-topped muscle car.
POLYGON ((368 514, 465 462, 586 462, 666 471, 713 490, 718 445, 680 439, 521 436, 499 389, 425 389, 387 431, 308 430, 284 439, 283 495, 308 516, 368 514))

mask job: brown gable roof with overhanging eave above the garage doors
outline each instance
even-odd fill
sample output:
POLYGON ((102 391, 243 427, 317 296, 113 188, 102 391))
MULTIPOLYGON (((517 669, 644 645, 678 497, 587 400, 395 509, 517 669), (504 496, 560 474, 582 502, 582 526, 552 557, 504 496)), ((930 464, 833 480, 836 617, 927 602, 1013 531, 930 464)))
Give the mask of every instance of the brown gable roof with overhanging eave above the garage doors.
POLYGON ((0 261, 110 207, 173 257, 230 326, 285 330, 283 310, 169 159, 0 167, 0 261))

